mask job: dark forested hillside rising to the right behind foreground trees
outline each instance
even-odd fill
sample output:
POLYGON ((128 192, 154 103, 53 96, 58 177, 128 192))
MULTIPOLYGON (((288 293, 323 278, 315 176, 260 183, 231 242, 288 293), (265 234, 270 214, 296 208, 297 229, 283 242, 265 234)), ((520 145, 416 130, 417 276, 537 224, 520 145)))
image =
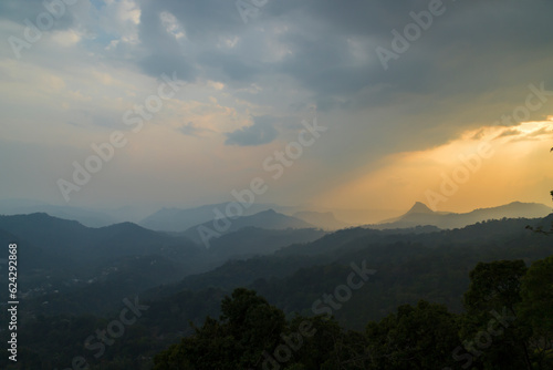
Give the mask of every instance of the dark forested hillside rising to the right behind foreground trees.
MULTIPOLYGON (((190 321, 201 326, 207 315, 217 318, 223 297, 238 287, 257 291, 285 315, 332 314, 336 325, 359 333, 369 321, 379 322, 397 312, 401 305, 417 305, 420 299, 444 305, 438 310, 446 309, 447 315, 462 314, 466 311, 463 292, 470 288, 469 274, 479 263, 520 259, 530 266, 553 255, 550 236, 525 228, 526 225, 547 226, 552 222, 553 216, 541 220, 486 222, 453 230, 352 228, 312 243, 291 245, 271 256, 232 260, 176 284, 146 288, 139 294, 139 301, 148 308, 125 330, 123 338, 114 340, 113 347, 106 347, 101 361, 84 347, 84 340, 118 317, 125 307, 123 299, 134 299, 133 296, 119 297, 118 308, 102 317, 62 316, 55 311, 41 314, 40 302, 33 306, 29 301, 25 325, 20 330, 21 353, 27 354, 21 357, 19 368, 8 369, 33 369, 33 363, 62 368, 71 363, 74 353, 83 353, 91 369, 149 369, 155 353, 179 342, 182 336, 194 333, 190 321), (364 275, 351 277, 359 270, 364 275), (36 336, 36 332, 43 335, 36 336), (41 362, 33 362, 39 359, 41 362)), ((122 275, 118 279, 125 277, 122 275)), ((102 291, 95 295, 96 300, 104 298, 102 291)), ((63 307, 63 299, 71 304, 75 297, 62 295, 60 298, 59 304, 63 307)), ((417 315, 429 315, 425 307, 416 311, 417 315)), ((406 312, 405 309, 401 312, 406 312)), ((307 366, 304 369, 315 368, 307 366)))

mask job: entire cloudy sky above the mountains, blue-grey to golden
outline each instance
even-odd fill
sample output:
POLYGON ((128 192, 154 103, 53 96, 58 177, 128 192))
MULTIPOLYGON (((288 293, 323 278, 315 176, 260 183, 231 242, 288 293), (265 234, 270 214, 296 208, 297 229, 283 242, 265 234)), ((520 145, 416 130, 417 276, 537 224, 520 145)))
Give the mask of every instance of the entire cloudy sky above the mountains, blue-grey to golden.
POLYGON ((552 13, 547 0, 1 1, 0 198, 551 204, 552 13))

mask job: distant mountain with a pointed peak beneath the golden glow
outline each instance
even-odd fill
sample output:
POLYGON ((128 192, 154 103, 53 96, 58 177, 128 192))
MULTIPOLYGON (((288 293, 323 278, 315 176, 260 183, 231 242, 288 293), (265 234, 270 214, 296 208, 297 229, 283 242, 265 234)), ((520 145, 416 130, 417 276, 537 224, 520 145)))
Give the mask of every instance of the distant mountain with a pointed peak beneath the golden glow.
POLYGON ((491 208, 479 208, 469 213, 445 213, 432 212, 425 204, 417 202, 403 216, 386 219, 375 228, 407 228, 422 225, 437 226, 439 228, 460 228, 467 225, 480 223, 488 219, 501 218, 540 218, 552 213, 552 208, 539 203, 513 202, 507 205, 491 208))

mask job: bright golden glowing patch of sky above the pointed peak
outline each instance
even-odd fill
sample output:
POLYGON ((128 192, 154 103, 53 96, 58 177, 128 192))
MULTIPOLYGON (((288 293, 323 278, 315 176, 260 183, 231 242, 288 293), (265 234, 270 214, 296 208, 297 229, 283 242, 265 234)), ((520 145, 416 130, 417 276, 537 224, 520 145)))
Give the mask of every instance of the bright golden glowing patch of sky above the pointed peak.
POLYGON ((389 155, 379 168, 322 194, 315 202, 331 208, 369 204, 406 209, 417 201, 450 212, 514 201, 549 204, 553 189, 551 146, 553 116, 512 127, 483 126, 436 147, 389 155))

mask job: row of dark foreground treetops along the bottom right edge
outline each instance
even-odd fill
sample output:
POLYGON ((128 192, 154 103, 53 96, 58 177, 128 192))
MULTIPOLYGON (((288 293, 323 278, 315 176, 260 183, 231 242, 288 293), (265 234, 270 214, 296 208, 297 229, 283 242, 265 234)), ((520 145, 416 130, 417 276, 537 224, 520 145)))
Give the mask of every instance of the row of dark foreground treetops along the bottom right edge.
POLYGON ((553 257, 481 263, 466 311, 420 300, 347 331, 331 317, 296 316, 236 289, 195 333, 155 357, 155 370, 552 369, 553 257))

